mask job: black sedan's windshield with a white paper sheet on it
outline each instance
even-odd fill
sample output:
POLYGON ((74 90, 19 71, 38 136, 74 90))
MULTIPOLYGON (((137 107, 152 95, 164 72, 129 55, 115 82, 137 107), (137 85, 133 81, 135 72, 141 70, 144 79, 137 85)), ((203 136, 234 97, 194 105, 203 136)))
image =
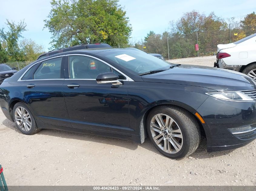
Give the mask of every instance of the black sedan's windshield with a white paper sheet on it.
POLYGON ((132 49, 115 49, 97 53, 138 74, 154 70, 167 70, 173 64, 132 49))

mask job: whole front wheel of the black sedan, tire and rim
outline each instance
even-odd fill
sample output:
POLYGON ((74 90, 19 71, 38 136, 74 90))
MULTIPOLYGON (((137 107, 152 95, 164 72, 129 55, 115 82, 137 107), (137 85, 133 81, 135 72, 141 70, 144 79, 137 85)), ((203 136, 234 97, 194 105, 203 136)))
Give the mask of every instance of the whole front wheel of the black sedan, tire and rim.
POLYGON ((172 159, 180 159, 192 154, 198 148, 201 138, 195 116, 177 106, 154 108, 147 118, 147 130, 150 140, 158 151, 172 159), (159 126, 158 121, 162 125, 159 126), (161 126, 162 128, 158 129, 161 126))

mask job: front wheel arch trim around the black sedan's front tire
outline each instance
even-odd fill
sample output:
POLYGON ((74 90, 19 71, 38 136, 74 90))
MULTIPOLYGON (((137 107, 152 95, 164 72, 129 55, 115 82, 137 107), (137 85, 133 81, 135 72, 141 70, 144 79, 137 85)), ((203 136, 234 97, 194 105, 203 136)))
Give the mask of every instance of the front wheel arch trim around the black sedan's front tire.
POLYGON ((154 105, 154 106, 148 108, 148 110, 142 116, 141 123, 140 123, 141 143, 143 143, 145 138, 148 136, 147 123, 146 122, 147 122, 148 114, 151 112, 151 110, 153 110, 153 109, 155 109, 156 107, 159 107, 159 106, 172 106, 172 105, 180 107, 184 110, 187 110, 189 113, 191 113, 195 117, 195 119, 197 120, 197 122, 200 126, 201 133, 203 135, 205 135, 204 126, 202 125, 201 121, 194 115, 197 112, 194 108, 192 108, 191 106, 189 106, 185 103, 181 103, 181 102, 161 103, 161 104, 154 105))

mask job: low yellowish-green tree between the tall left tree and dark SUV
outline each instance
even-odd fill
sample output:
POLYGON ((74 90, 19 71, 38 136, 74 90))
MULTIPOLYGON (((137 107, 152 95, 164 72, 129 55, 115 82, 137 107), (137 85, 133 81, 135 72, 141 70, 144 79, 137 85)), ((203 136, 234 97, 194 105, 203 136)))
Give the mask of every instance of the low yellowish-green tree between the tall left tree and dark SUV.
POLYGON ((20 49, 22 61, 36 60, 40 54, 44 53, 44 47, 31 39, 23 39, 20 42, 20 49))

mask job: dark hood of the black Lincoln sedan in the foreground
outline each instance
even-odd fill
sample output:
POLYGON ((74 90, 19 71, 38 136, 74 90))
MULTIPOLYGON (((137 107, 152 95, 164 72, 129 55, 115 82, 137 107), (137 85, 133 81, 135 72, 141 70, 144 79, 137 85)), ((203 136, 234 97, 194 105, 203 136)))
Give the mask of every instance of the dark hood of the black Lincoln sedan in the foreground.
POLYGON ((141 76, 145 82, 184 84, 215 91, 256 89, 256 81, 239 72, 198 65, 180 65, 163 72, 141 76))

